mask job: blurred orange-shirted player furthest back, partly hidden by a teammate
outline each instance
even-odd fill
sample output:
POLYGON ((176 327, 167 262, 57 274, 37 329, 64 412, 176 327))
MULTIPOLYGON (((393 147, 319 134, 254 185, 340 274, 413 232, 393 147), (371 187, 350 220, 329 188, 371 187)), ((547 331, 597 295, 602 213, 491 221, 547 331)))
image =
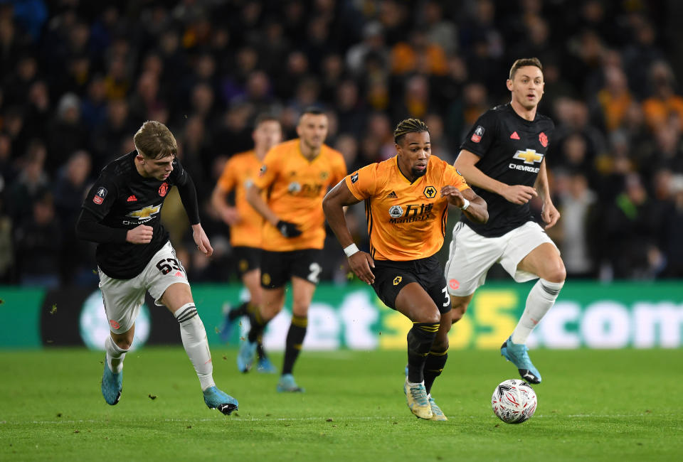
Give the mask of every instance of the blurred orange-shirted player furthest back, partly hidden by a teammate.
MULTIPOLYGON (((252 133, 254 149, 235 154, 226 162, 221 178, 211 195, 211 205, 216 209, 223 222, 230 226, 230 243, 233 247, 233 260, 242 283, 249 291, 249 300, 226 313, 221 328, 221 338, 230 338, 235 319, 245 316, 249 311, 258 309, 261 303, 260 260, 261 230, 263 217, 252 208, 246 198, 247 189, 258 176, 265 154, 272 146, 282 141, 280 121, 270 114, 256 117, 252 133), (235 205, 228 205, 228 194, 235 193, 235 205)), ((261 340, 258 340, 259 372, 275 373, 277 370, 265 355, 261 340)))

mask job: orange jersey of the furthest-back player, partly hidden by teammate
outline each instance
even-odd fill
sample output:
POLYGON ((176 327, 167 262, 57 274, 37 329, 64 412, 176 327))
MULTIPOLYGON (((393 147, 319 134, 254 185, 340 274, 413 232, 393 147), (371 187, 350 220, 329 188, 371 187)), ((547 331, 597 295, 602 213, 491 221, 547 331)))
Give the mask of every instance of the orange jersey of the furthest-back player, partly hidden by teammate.
POLYGON ((235 154, 227 162, 218 187, 229 193, 235 190, 235 208, 240 222, 230 227, 230 243, 233 247, 261 247, 263 217, 247 202, 247 188, 258 176, 261 161, 254 151, 235 154))

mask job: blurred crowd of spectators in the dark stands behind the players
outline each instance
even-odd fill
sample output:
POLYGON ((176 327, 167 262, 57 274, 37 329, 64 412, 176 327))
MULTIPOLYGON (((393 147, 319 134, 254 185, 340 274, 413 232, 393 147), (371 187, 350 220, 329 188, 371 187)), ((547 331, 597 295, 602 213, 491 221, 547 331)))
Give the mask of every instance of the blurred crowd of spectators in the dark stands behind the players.
MULTIPOLYGON (((166 200, 190 280, 234 280, 209 198, 257 114, 277 114, 290 139, 300 110, 322 107, 349 171, 393 156, 393 127, 418 117, 452 162, 477 117, 509 101, 512 62, 534 56, 540 112, 556 124, 546 159, 562 218, 549 233, 568 277, 683 277, 672 3, 0 0, 0 283, 96 284, 75 219, 147 119, 174 132, 216 247, 195 254, 179 200, 166 200)), ((350 215, 366 247, 362 209, 350 215)), ((332 236, 327 251, 324 278, 344 281, 332 236)))

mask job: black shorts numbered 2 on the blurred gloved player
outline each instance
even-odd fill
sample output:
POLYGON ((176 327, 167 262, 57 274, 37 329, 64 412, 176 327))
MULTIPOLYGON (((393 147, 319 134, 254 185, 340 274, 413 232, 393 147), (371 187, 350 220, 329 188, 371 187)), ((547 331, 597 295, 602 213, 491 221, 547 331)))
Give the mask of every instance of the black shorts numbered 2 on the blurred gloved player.
POLYGON ((261 287, 277 289, 292 276, 318 284, 322 271, 322 249, 301 249, 290 252, 261 253, 261 287))

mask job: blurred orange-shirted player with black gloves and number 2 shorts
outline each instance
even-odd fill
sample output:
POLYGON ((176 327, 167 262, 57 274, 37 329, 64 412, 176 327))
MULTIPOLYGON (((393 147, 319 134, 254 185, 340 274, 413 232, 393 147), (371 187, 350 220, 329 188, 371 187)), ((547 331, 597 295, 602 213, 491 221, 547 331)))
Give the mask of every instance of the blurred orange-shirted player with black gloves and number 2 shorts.
POLYGON ((299 138, 268 151, 260 174, 247 192, 249 203, 265 218, 261 287, 263 303, 251 319, 248 339, 240 346, 238 368, 247 372, 256 341, 268 321, 282 310, 285 284, 292 281, 292 323, 285 343, 280 392, 301 392, 292 375, 307 328, 325 239, 322 199, 346 176, 344 157, 324 144, 327 115, 306 109, 297 125, 299 138), (266 192, 265 200, 262 193, 266 192))

